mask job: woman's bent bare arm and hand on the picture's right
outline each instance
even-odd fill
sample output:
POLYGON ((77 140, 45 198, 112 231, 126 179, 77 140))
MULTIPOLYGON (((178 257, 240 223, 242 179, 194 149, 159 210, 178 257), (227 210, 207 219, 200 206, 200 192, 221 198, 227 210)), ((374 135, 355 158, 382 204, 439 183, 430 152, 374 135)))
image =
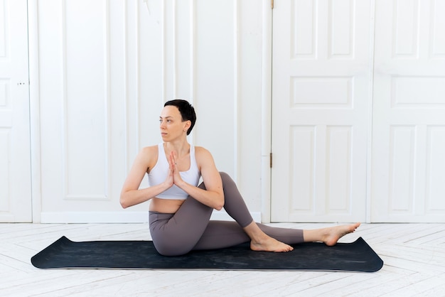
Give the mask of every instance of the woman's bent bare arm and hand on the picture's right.
POLYGON ((195 158, 200 168, 201 176, 205 184, 205 190, 190 185, 182 180, 175 166, 174 154, 170 158, 170 166, 173 168, 173 182, 188 195, 199 202, 215 210, 221 210, 224 206, 223 181, 221 175, 215 166, 213 157, 208 150, 202 147, 195 147, 195 158))

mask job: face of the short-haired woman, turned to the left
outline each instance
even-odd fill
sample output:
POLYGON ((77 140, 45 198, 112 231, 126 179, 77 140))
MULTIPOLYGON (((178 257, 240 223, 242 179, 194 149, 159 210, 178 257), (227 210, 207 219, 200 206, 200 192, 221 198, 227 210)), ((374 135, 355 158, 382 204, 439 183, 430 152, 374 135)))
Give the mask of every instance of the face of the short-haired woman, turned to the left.
POLYGON ((182 121, 178 107, 168 105, 163 107, 159 116, 159 128, 163 141, 172 141, 180 136, 187 135, 190 121, 182 121))

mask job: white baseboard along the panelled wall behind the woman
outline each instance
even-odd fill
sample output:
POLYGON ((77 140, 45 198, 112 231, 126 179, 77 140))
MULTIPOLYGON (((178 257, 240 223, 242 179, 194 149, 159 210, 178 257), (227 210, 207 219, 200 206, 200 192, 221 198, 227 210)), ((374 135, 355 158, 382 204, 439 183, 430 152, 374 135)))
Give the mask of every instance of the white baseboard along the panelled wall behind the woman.
MULTIPOLYGON (((251 212, 255 222, 261 222, 261 212, 251 212)), ((227 212, 213 211, 210 220, 233 220, 227 212)), ((41 212, 43 224, 81 223, 146 223, 149 212, 41 212)))

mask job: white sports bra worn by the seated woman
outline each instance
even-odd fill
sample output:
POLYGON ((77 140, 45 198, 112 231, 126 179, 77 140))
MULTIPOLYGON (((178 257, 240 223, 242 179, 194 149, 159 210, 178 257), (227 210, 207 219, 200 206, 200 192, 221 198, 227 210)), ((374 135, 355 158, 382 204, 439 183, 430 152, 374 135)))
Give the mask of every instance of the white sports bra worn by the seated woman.
MULTIPOLYGON (((158 145, 158 161, 156 161, 155 166, 151 169, 149 176, 149 185, 159 185, 168 175, 168 161, 166 157, 166 152, 163 149, 163 144, 158 145)), ((190 145, 190 168, 188 171, 180 171, 181 178, 195 187, 198 186, 201 173, 198 170, 198 165, 196 164, 195 158, 195 147, 190 145)), ((163 191, 163 193, 156 196, 159 199, 171 199, 171 200, 186 200, 188 194, 181 190, 177 185, 173 185, 168 190, 163 191)))

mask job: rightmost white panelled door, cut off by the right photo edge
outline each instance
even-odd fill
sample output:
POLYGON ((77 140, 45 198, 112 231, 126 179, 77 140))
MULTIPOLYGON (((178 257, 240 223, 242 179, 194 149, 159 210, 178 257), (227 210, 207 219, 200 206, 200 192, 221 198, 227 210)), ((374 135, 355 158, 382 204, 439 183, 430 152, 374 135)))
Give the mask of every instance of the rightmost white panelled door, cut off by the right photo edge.
POLYGON ((445 222, 445 2, 375 9, 372 222, 445 222))

